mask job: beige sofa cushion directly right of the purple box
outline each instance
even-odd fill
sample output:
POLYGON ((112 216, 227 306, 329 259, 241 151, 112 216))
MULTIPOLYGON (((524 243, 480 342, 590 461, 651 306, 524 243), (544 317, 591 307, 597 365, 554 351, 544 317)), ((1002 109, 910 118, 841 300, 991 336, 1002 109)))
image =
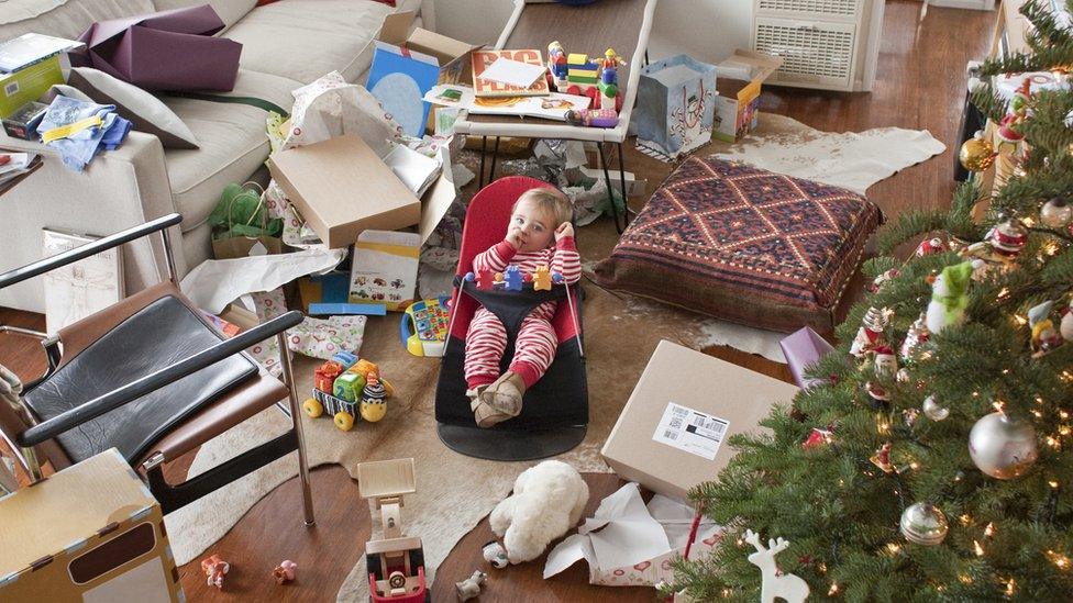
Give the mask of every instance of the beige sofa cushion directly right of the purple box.
MULTIPOLYGON (((418 3, 420 5, 420 3, 418 3)), ((353 82, 373 62, 372 40, 395 10, 370 0, 280 0, 228 30, 243 68, 309 83, 330 71, 353 82)))

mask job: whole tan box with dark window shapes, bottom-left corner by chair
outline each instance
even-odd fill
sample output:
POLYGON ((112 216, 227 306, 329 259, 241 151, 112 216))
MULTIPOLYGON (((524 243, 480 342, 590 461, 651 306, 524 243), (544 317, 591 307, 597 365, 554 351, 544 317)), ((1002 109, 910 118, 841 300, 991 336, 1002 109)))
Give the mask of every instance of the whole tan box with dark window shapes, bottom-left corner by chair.
POLYGON ((185 601, 161 505, 114 448, 0 500, 0 601, 185 601))

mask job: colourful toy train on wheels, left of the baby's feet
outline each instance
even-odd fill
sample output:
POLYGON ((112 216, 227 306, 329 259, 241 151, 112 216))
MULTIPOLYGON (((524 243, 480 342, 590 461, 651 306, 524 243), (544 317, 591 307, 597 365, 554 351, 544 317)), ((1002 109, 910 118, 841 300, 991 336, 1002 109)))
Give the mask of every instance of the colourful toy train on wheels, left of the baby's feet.
POLYGON ((379 375, 375 364, 340 351, 317 368, 312 397, 302 403, 302 410, 311 418, 327 412, 343 432, 354 428, 358 420, 376 423, 387 414, 385 400, 395 393, 379 375))

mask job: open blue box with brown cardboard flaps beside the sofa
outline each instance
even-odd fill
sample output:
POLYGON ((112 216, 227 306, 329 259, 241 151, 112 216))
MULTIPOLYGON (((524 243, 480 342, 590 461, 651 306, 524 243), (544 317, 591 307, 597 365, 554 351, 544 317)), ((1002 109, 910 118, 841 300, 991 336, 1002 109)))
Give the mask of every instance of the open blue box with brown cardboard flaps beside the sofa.
POLYGON ((385 110, 396 116, 407 134, 421 136, 425 124, 429 131, 434 131, 434 116, 430 115, 428 102, 422 97, 436 83, 458 83, 469 53, 480 48, 483 44, 460 42, 453 37, 417 27, 410 32, 414 13, 399 12, 384 19, 380 33, 376 36, 376 49, 373 53, 373 65, 369 67, 365 87, 374 97, 384 103, 385 110), (392 76, 399 80, 397 74, 407 74, 412 79, 413 91, 401 93, 403 86, 410 82, 384 81, 385 76, 392 76), (378 90, 387 85, 390 89, 378 90), (412 120, 405 115, 420 111, 412 120), (420 119, 420 121, 418 121, 420 119))

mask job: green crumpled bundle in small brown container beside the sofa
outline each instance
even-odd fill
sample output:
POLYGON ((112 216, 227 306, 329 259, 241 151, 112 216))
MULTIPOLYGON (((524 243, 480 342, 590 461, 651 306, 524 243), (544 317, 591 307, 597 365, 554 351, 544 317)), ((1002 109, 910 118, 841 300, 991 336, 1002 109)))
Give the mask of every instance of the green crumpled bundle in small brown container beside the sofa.
POLYGON ((270 216, 261 185, 231 183, 209 214, 212 255, 217 259, 279 254, 284 221, 270 216))

